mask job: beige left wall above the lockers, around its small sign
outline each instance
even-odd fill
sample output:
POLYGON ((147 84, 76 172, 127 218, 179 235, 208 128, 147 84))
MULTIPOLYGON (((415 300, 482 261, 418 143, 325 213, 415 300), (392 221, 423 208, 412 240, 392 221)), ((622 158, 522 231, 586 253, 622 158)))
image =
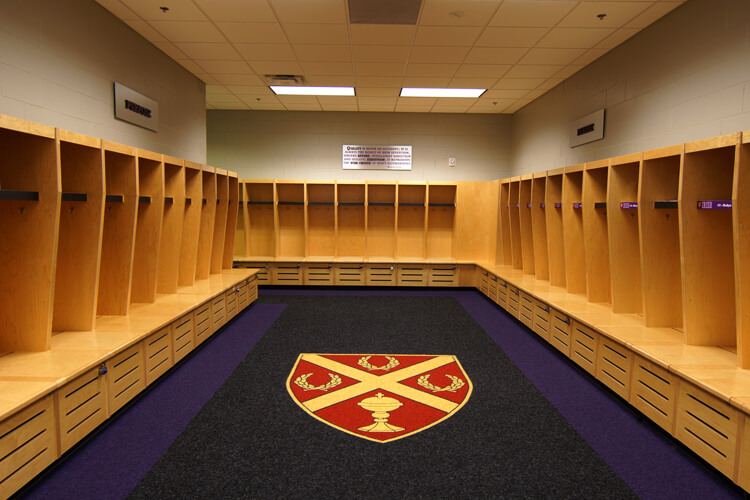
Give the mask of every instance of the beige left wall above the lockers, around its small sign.
POLYGON ((206 158, 205 85, 93 0, 0 1, 0 113, 206 158), (114 119, 113 82, 159 103, 159 132, 114 119))

